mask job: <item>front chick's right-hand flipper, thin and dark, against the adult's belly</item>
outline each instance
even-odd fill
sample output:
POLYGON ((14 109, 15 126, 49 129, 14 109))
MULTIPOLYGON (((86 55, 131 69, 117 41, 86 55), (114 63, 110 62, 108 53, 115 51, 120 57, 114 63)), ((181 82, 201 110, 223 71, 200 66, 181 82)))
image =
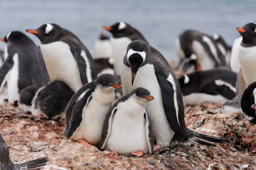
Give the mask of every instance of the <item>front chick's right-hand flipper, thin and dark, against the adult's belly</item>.
POLYGON ((144 113, 144 123, 145 123, 145 130, 146 130, 146 139, 148 142, 148 151, 150 154, 152 154, 154 150, 154 139, 153 139, 152 128, 148 120, 147 112, 144 113))

